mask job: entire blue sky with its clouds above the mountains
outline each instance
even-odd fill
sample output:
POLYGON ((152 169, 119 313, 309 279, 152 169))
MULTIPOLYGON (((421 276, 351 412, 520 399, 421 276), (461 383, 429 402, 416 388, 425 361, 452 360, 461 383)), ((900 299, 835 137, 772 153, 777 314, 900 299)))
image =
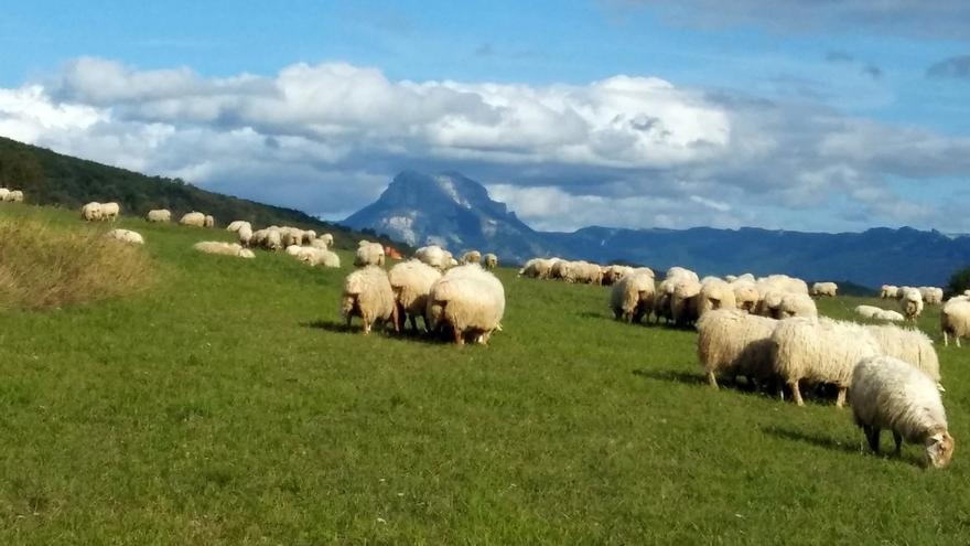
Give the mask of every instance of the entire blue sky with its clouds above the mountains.
POLYGON ((0 136, 341 220, 970 233, 970 2, 0 0, 0 136))

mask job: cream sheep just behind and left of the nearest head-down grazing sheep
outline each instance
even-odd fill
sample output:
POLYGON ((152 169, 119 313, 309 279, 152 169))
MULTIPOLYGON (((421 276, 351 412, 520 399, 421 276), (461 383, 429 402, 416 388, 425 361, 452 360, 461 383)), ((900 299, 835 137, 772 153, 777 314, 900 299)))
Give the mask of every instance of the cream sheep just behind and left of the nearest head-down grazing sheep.
POLYGON ((839 388, 838 407, 845 402, 852 367, 860 360, 881 354, 879 343, 864 326, 830 319, 796 317, 778 322, 772 332, 773 368, 791 388, 795 403, 804 406, 798 383, 831 383, 839 388))

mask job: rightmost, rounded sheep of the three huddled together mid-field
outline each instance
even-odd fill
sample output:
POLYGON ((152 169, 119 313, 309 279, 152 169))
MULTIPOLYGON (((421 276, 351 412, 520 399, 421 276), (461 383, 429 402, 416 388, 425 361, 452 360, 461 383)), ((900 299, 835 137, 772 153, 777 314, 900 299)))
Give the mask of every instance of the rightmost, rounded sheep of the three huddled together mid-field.
POLYGON ((477 264, 455 267, 431 286, 427 317, 434 332, 450 329, 454 342, 465 338, 487 344, 505 314, 505 288, 477 264))

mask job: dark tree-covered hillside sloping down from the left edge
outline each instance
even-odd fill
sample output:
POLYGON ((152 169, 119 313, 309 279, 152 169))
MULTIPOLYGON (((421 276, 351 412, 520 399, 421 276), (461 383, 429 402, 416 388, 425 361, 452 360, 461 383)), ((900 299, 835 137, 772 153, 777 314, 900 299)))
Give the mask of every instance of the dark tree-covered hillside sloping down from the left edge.
POLYGON ((356 246, 360 238, 401 246, 369 229, 355 232, 293 208, 208 192, 180 179, 147 176, 3 137, 0 188, 23 190, 28 201, 39 205, 78 210, 89 201, 116 201, 123 214, 142 217, 152 208, 169 208, 176 217, 190 211, 204 211, 222 225, 244 218, 255 226, 292 225, 330 232, 336 245, 344 248, 356 246))

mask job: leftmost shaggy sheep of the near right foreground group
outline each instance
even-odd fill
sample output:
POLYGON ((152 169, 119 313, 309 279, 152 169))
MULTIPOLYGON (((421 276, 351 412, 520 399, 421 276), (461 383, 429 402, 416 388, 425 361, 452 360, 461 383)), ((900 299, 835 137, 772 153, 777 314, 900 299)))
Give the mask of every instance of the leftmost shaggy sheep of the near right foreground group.
POLYGON ((748 382, 773 377, 772 332, 778 321, 736 309, 705 312, 698 320, 698 357, 708 383, 718 388, 716 374, 743 375, 748 382))

